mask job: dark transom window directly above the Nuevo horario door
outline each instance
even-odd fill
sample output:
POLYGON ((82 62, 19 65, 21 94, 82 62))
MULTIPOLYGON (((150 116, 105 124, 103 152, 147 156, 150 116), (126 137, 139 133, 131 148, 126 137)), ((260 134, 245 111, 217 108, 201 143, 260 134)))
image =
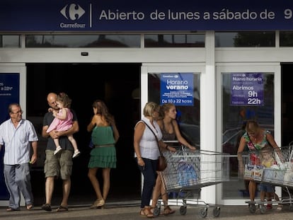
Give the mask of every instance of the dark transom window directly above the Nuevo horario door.
POLYGON ((275 31, 216 32, 215 47, 275 47, 275 31))

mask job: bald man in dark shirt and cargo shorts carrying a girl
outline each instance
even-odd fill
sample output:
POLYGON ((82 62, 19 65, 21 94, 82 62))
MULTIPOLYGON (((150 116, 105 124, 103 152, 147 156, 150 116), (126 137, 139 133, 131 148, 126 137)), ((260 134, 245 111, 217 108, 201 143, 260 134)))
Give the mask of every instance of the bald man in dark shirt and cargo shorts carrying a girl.
MULTIPOLYGON (((56 103, 57 94, 49 93, 47 95, 47 102, 50 108, 58 110, 56 103)), ((53 130, 49 134, 47 129, 52 123, 54 116, 52 111, 47 112, 43 119, 42 127, 42 137, 47 137, 47 148, 46 148, 46 159, 44 166, 44 173, 46 178, 45 183, 45 197, 46 203, 42 205, 42 209, 45 211, 52 211, 51 199, 54 190, 54 180, 56 178, 61 178, 63 180, 63 197, 60 206, 57 208, 57 212, 68 210, 68 198, 71 187, 71 171, 72 171, 72 155, 74 153, 74 148, 71 142, 67 138, 68 134, 74 134, 79 132, 79 123, 77 121, 76 113, 72 110, 73 114, 73 125, 65 132, 57 132, 53 130), (59 138, 59 144, 62 146, 61 154, 54 155, 54 150, 56 148, 54 144, 54 138, 59 138)))

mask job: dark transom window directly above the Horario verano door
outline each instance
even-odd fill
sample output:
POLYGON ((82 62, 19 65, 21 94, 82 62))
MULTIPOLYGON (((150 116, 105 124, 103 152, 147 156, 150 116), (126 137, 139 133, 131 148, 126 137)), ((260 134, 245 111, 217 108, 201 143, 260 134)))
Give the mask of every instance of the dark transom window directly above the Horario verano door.
POLYGON ((205 34, 144 35, 144 47, 205 47, 205 34))

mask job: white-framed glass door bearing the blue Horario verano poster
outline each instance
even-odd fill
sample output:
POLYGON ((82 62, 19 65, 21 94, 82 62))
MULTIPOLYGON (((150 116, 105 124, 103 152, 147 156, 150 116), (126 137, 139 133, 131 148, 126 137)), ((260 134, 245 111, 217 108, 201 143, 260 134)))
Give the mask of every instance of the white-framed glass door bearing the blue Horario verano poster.
MULTIPOLYGON (((195 64, 182 66, 182 64, 160 65, 143 64, 142 65, 142 110, 145 103, 153 101, 159 105, 164 103, 173 103, 176 105, 177 117, 176 120, 180 127, 182 136, 191 145, 197 149, 202 149, 201 140, 201 117, 200 117, 200 79, 202 74, 205 74, 204 66, 195 64)), ((178 154, 179 151, 178 151, 178 154)), ((176 172, 173 164, 174 172, 176 172)), ((178 179, 172 178, 172 181, 178 181, 180 185, 179 173, 178 179)), ((166 181, 170 181, 168 179, 166 181)), ((167 185, 176 185, 176 183, 166 183, 167 185)), ((168 186, 167 186, 168 188, 168 186)), ((203 197, 203 194, 197 190, 188 192, 188 199, 197 199, 203 197), (199 195, 201 194, 201 195, 199 195)), ((179 195, 180 196, 180 195, 179 195)), ((185 195, 181 195, 185 196, 185 195)), ((168 193, 169 202, 176 202, 178 195, 176 193, 168 193)), ((206 198, 202 198, 206 199, 206 198)))

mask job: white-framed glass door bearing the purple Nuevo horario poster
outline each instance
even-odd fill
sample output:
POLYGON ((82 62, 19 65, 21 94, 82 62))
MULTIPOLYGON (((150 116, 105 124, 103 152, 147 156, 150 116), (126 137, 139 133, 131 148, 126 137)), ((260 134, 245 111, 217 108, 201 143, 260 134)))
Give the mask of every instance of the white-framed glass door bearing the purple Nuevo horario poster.
POLYGON ((230 181, 217 190, 224 203, 243 204, 243 199, 249 199, 247 181, 238 175, 236 155, 246 121, 256 120, 270 130, 281 146, 280 94, 280 64, 217 66, 217 143, 223 153, 230 154, 230 181))

